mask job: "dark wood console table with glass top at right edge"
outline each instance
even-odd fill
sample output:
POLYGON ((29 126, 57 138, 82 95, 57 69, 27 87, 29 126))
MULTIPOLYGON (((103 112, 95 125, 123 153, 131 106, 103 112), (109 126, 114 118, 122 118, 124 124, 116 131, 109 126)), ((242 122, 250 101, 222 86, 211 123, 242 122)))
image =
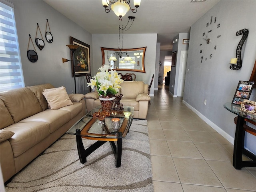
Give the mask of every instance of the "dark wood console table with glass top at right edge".
POLYGON ((246 122, 250 122, 256 125, 256 115, 248 114, 240 110, 239 105, 234 105, 231 102, 225 103, 224 107, 230 112, 238 115, 234 118, 236 124, 236 134, 234 140, 234 152, 233 152, 233 166, 236 169, 242 167, 256 167, 256 155, 244 148, 244 136, 245 132, 248 132, 256 136, 256 130, 246 125, 246 122), (251 160, 242 160, 242 154, 249 157, 251 160))

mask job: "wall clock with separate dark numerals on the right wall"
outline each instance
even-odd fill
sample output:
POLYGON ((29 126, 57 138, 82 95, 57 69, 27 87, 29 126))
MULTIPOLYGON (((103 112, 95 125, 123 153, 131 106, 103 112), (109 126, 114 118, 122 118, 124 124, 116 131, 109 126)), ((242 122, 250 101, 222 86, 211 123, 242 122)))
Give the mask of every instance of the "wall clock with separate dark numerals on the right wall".
POLYGON ((199 44, 201 63, 210 60, 214 56, 215 50, 218 49, 217 39, 220 38, 220 23, 218 23, 217 17, 211 16, 204 25, 199 44))

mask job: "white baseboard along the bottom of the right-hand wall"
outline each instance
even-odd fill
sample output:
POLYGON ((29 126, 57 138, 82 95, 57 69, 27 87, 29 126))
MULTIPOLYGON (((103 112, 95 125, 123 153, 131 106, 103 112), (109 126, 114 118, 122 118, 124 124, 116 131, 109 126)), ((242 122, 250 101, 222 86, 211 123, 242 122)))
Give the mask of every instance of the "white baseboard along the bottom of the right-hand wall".
POLYGON ((214 124, 212 121, 210 121, 206 116, 204 116, 203 114, 201 114, 198 110, 196 110, 195 108, 193 108, 190 104, 188 104, 186 101, 182 100, 182 102, 188 107, 190 108, 194 113, 196 113, 200 118, 202 118, 202 120, 204 120, 204 122, 206 122, 209 126, 211 126, 214 130, 216 130, 219 134, 221 134, 226 140, 228 140, 230 143, 232 143, 234 145, 234 138, 232 138, 232 136, 230 136, 229 134, 227 134, 224 130, 222 130, 222 128, 220 128, 219 126, 217 126, 216 124, 214 124))

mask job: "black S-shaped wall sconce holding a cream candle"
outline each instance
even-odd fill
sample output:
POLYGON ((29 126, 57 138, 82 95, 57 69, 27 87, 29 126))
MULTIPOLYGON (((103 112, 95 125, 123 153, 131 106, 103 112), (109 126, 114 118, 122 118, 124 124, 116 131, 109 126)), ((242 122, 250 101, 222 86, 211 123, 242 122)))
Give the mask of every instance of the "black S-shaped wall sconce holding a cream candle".
POLYGON ((230 61, 230 69, 232 70, 238 70, 242 68, 242 58, 241 58, 241 52, 242 52, 242 46, 248 37, 249 30, 248 29, 242 29, 236 32, 236 36, 243 35, 240 42, 238 43, 238 46, 236 48, 236 58, 231 59, 230 61))

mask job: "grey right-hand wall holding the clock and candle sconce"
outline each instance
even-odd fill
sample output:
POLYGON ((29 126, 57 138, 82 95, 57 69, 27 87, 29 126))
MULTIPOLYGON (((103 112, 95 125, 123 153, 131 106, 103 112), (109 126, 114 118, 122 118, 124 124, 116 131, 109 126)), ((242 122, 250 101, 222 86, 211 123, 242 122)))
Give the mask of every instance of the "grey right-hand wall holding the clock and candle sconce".
MULTIPOLYGON (((255 10, 256 1, 220 1, 190 30, 184 101, 230 142, 234 142, 236 115, 226 110, 223 104, 232 101, 239 80, 249 80, 252 73, 256 58, 255 10), (206 23, 210 22, 211 16, 217 16, 216 23, 220 23, 220 28, 214 28, 212 34, 208 34, 213 41, 204 49, 204 57, 208 60, 201 63, 202 33, 207 31, 206 23), (249 35, 242 48, 242 68, 230 70, 230 59, 236 57, 242 37, 236 36, 236 32, 244 28, 249 30, 249 35), (221 37, 216 38, 217 35, 221 37), (212 49, 213 43, 217 45, 216 50, 212 49)), ((256 140, 250 142, 254 142, 254 148, 250 150, 256 153, 256 140)))

